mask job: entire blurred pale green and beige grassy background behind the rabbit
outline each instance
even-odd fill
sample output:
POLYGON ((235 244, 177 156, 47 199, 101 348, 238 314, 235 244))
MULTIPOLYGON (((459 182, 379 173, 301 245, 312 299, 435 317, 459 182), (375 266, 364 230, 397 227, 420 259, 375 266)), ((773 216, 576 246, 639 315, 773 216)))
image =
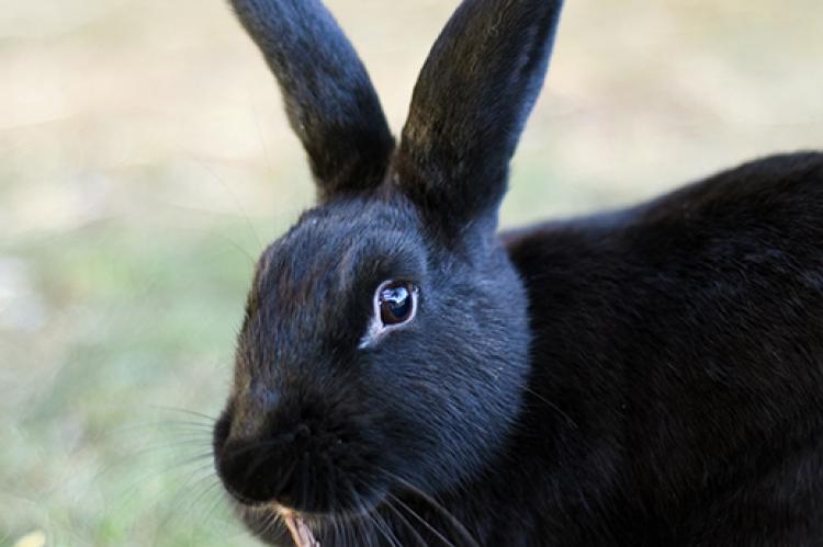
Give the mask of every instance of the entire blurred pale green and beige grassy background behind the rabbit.
MULTIPOLYGON (((393 127, 455 0, 329 0, 393 127)), ((222 0, 0 0, 0 545, 253 545, 205 419, 312 201, 222 0)), ((818 0, 568 2, 505 225, 823 147, 818 0)))

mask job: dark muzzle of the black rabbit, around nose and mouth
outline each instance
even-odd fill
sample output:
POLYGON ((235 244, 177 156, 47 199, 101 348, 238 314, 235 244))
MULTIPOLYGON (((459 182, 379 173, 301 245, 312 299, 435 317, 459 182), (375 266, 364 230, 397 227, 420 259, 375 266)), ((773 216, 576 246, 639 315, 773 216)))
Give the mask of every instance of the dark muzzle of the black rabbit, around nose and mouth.
POLYGON ((351 407, 305 391, 259 402, 233 399, 215 426, 214 463, 228 493, 247 505, 301 512, 357 509, 349 481, 361 472, 363 451, 360 429, 346 412, 351 407))

